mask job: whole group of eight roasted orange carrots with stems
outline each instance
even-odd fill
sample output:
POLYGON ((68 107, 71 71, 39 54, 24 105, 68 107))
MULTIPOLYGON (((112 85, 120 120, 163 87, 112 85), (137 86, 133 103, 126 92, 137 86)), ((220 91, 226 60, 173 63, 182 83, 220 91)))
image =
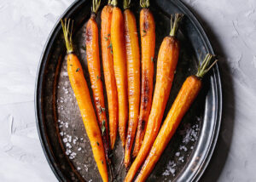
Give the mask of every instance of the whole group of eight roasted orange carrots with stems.
POLYGON ((68 77, 102 180, 108 181, 108 166, 113 179, 110 156, 119 131, 125 149, 125 168, 129 169, 125 181, 132 181, 142 165, 136 181, 145 181, 200 92, 201 78, 217 60, 212 63, 213 56, 207 54, 195 76, 183 82, 160 128, 176 70, 180 50, 176 35, 183 15, 175 14, 174 20, 171 18, 170 35, 161 43, 153 96, 155 24, 149 0, 140 0, 141 54, 136 18, 129 9, 131 0, 124 0, 123 13, 117 6, 117 0, 109 0, 101 14, 102 66, 108 97, 107 121, 96 24, 100 3, 100 0, 92 0, 91 16, 85 31, 86 57, 96 114, 82 66, 73 50, 73 21, 61 20, 67 47, 68 77), (131 153, 132 146, 134 149, 131 153), (135 158, 132 163, 131 156, 135 158))

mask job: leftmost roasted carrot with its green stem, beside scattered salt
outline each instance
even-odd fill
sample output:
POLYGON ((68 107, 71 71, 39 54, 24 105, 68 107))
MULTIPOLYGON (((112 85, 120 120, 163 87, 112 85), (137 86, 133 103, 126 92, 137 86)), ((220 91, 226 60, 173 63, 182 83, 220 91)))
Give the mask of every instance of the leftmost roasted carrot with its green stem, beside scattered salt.
MULTIPOLYGON (((108 169, 102 142, 102 133, 96 120, 96 114, 90 100, 90 92, 84 78, 83 68, 78 57, 73 53, 72 28, 69 31, 70 20, 61 20, 67 47, 67 74, 77 99, 86 133, 90 139, 93 156, 102 180, 108 182, 108 169)), ((72 23, 73 26, 73 23, 72 23)))

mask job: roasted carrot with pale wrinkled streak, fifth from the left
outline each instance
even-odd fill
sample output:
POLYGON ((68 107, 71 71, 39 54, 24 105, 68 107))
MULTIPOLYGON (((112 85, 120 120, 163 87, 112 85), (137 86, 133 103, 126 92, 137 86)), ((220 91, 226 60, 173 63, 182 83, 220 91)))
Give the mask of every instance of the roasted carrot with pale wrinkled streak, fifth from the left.
POLYGON ((140 106, 140 49, 134 14, 129 9, 130 0, 124 0, 125 50, 127 60, 129 122, 125 140, 125 167, 131 162, 131 147, 137 131, 140 106))

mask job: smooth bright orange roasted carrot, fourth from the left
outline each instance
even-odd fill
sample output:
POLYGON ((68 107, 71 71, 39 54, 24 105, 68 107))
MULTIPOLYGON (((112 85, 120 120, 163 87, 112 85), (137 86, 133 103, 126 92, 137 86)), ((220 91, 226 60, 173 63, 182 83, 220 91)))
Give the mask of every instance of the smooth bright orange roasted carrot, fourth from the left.
POLYGON ((125 147, 126 125, 128 120, 127 71, 125 55, 124 21, 117 0, 111 2, 113 13, 111 20, 111 44, 113 48, 113 70, 119 102, 119 136, 125 147))

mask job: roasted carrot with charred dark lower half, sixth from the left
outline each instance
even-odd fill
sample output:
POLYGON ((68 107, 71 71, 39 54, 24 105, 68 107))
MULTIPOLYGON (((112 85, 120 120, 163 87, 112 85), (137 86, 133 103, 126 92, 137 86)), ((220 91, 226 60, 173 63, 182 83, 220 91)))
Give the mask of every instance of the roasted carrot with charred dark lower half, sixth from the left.
POLYGON ((155 25, 153 14, 148 9, 149 0, 142 1, 143 9, 140 12, 140 34, 142 47, 142 94, 140 114, 137 125, 137 134, 132 156, 136 157, 143 143, 148 116, 152 103, 153 77, 154 77, 154 47, 155 25))

